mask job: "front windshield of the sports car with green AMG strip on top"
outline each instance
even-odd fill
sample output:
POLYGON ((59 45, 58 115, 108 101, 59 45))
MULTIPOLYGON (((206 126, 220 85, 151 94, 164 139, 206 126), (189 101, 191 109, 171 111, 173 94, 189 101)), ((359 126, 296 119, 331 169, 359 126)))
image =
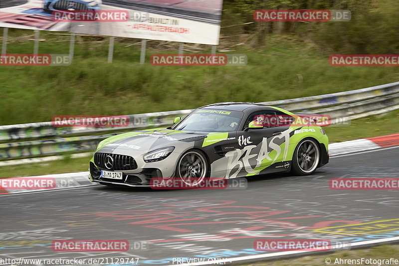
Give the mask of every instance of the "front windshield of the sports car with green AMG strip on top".
POLYGON ((201 132, 237 131, 244 113, 238 111, 199 109, 188 115, 173 130, 201 132))

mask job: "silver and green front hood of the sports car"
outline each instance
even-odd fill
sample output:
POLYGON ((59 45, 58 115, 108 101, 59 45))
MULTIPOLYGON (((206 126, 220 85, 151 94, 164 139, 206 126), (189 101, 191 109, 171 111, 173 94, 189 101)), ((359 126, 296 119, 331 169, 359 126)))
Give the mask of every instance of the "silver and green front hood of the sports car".
POLYGON ((206 137, 208 133, 182 132, 168 129, 135 131, 104 139, 98 152, 122 153, 152 151, 157 148, 175 146, 176 142, 192 142, 206 137))

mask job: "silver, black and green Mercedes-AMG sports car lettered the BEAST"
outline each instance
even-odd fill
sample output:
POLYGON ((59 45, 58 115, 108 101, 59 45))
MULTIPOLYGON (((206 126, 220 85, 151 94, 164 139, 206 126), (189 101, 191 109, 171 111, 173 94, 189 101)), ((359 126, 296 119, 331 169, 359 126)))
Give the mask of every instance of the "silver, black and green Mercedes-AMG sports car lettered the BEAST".
MULTIPOLYGON (((328 137, 304 115, 253 103, 218 103, 176 118, 169 128, 138 130, 101 141, 90 180, 151 186, 151 180, 312 174, 326 164, 328 137)), ((309 115, 311 117, 311 115, 309 115)))

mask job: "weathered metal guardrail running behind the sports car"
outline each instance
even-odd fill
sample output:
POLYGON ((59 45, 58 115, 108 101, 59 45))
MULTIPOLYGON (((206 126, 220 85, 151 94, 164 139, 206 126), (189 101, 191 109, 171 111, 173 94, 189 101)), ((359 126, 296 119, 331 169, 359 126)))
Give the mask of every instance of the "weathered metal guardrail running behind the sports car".
MULTIPOLYGON (((333 119, 344 116, 357 119, 399 109, 399 82, 262 104, 289 111, 329 115, 333 119)), ((130 115, 129 125, 125 128, 59 128, 53 127, 51 122, 0 126, 0 142, 3 142, 0 143, 0 160, 91 151, 99 141, 121 133, 121 130, 128 132, 171 125, 173 118, 185 116, 191 111, 130 115)))

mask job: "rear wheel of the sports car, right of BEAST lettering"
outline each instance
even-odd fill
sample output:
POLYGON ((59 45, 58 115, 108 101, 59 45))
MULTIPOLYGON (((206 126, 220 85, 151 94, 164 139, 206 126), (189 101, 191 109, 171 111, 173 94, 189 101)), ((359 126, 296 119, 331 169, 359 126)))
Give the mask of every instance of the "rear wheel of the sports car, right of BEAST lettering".
POLYGON ((292 156, 292 173, 296 175, 309 175, 316 171, 320 161, 319 145, 314 139, 301 140, 292 156))

